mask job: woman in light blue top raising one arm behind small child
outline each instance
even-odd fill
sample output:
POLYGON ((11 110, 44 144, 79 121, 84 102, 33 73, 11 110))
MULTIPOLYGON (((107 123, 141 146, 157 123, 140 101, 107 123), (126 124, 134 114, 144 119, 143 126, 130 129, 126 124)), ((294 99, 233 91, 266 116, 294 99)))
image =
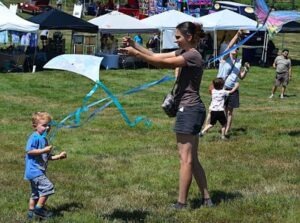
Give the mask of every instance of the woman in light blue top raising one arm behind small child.
MULTIPOLYGON (((225 50, 230 49, 239 39, 242 31, 239 30, 232 40, 229 42, 227 48, 225 50)), ((220 60, 219 64, 219 72, 217 77, 222 78, 225 81, 224 88, 225 90, 232 90, 236 83, 238 83, 239 79, 244 79, 249 71, 250 65, 248 62, 245 63, 242 68, 242 61, 237 57, 238 49, 232 50, 229 55, 224 56, 220 60)), ((225 113, 227 117, 227 126, 225 130, 225 135, 228 136, 232 125, 233 118, 233 109, 238 108, 240 106, 240 96, 239 89, 230 93, 225 101, 225 113)))

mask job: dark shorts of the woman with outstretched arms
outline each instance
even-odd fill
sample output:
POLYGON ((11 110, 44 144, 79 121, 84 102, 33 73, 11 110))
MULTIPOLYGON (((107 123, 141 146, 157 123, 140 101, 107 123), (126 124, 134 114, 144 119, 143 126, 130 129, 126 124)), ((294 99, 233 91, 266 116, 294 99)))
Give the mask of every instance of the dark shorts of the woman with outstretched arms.
POLYGON ((174 131, 176 133, 197 135, 201 131, 205 116, 205 106, 202 103, 190 107, 179 107, 174 131))

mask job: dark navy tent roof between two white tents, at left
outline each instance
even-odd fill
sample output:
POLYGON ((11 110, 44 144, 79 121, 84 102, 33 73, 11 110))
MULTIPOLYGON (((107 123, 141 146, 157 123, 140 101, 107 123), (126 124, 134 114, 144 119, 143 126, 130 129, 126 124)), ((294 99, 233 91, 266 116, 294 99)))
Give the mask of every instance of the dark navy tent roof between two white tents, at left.
POLYGON ((41 30, 55 29, 88 33, 98 32, 97 26, 57 9, 52 9, 30 17, 28 20, 40 24, 41 30))

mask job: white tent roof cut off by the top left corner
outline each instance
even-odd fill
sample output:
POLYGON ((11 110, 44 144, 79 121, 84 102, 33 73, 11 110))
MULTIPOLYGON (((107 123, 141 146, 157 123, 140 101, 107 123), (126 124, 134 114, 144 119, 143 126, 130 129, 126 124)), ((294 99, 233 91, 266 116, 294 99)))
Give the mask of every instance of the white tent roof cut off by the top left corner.
POLYGON ((38 29, 38 24, 22 19, 0 2, 0 31, 13 30, 27 33, 37 32, 38 29))

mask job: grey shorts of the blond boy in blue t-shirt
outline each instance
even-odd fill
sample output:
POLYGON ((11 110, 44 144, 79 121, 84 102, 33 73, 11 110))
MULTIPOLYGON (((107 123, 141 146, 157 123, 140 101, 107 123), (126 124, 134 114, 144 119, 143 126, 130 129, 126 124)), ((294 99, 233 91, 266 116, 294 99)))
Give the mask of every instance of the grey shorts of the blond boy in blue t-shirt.
POLYGON ((51 194, 54 194, 54 186, 46 177, 46 175, 41 175, 30 180, 30 184, 32 191, 31 198, 33 200, 36 200, 42 196, 49 196, 51 194))

